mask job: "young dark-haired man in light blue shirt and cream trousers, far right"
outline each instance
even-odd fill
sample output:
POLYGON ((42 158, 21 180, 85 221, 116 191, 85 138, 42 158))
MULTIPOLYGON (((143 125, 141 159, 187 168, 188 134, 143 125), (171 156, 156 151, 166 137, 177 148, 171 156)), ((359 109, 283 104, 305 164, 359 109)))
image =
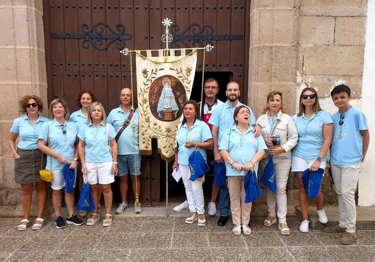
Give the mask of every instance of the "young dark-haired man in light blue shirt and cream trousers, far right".
POLYGON ((333 88, 331 97, 338 112, 332 114, 333 137, 330 162, 334 187, 338 198, 338 225, 326 227, 327 233, 345 233, 340 242, 352 244, 356 234, 356 204, 354 193, 359 174, 364 168, 370 134, 365 114, 349 105, 350 88, 340 84, 333 88))

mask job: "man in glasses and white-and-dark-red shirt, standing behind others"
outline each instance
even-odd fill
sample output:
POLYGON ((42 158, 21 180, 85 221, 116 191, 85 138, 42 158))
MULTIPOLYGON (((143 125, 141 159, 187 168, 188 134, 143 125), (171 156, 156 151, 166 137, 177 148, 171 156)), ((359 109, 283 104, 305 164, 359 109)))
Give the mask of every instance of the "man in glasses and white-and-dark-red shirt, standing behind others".
MULTIPOLYGON (((219 92, 219 83, 216 79, 214 78, 208 78, 204 82, 204 87, 203 87, 205 99, 204 99, 204 104, 202 105, 203 110, 200 112, 201 119, 208 124, 210 127, 210 130, 212 130, 212 125, 208 123, 208 120, 210 120, 212 112, 214 112, 214 109, 217 106, 220 106, 223 104, 222 101, 217 99, 217 93, 219 92)), ((198 107, 200 109, 200 103, 198 103, 198 107)), ((207 163, 209 166, 211 161, 213 161, 214 158, 214 152, 213 150, 206 150, 207 152, 207 163)), ((216 215, 216 198, 219 195, 219 188, 215 187, 215 180, 212 182, 212 193, 211 193, 211 199, 210 202, 208 203, 208 215, 209 216, 215 216, 216 215)), ((173 211, 182 211, 185 209, 188 209, 189 205, 187 201, 184 201, 180 205, 177 205, 173 208, 173 211)))

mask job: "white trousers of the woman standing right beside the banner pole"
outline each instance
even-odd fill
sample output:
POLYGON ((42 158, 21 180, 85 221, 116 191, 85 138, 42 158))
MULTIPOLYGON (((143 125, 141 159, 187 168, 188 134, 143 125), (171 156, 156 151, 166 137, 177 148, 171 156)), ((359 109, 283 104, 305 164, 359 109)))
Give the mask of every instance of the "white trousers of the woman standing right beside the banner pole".
POLYGON ((186 198, 189 203, 190 212, 204 214, 204 196, 203 196, 203 182, 195 180, 194 182, 187 179, 189 166, 179 164, 182 180, 184 182, 186 198))

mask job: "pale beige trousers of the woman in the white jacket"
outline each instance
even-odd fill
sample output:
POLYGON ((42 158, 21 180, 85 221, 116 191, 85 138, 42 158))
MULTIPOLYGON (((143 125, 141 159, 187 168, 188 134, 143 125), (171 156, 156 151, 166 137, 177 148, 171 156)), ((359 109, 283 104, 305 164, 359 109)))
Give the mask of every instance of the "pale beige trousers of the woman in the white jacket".
MULTIPOLYGON (((259 167, 262 171, 268 163, 268 157, 262 159, 259 163, 259 167)), ((286 208, 287 208, 287 198, 286 198, 286 184, 288 183, 289 170, 291 166, 291 158, 274 158, 275 166, 275 177, 276 177, 276 187, 277 193, 274 193, 270 189, 266 189, 266 201, 268 206, 268 215, 276 217, 275 206, 278 205, 278 218, 279 223, 286 222, 286 208)))

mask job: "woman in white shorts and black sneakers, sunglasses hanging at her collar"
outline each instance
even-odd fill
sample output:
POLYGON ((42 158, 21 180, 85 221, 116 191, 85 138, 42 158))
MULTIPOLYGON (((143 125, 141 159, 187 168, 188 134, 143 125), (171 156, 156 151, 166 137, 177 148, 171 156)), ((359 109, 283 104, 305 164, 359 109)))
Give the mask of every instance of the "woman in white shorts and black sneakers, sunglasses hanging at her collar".
MULTIPOLYGON (((65 227, 61 213, 62 190, 65 187, 63 168, 65 164, 70 164, 69 169, 74 169, 77 174, 78 130, 75 123, 67 121, 69 109, 65 100, 53 100, 49 104, 48 117, 52 120, 42 126, 39 134, 39 149, 48 155, 46 169, 53 173, 52 204, 56 228, 61 229, 65 227)), ((74 214, 74 190, 71 193, 65 192, 64 199, 68 208, 66 224, 83 225, 82 220, 74 214)))

